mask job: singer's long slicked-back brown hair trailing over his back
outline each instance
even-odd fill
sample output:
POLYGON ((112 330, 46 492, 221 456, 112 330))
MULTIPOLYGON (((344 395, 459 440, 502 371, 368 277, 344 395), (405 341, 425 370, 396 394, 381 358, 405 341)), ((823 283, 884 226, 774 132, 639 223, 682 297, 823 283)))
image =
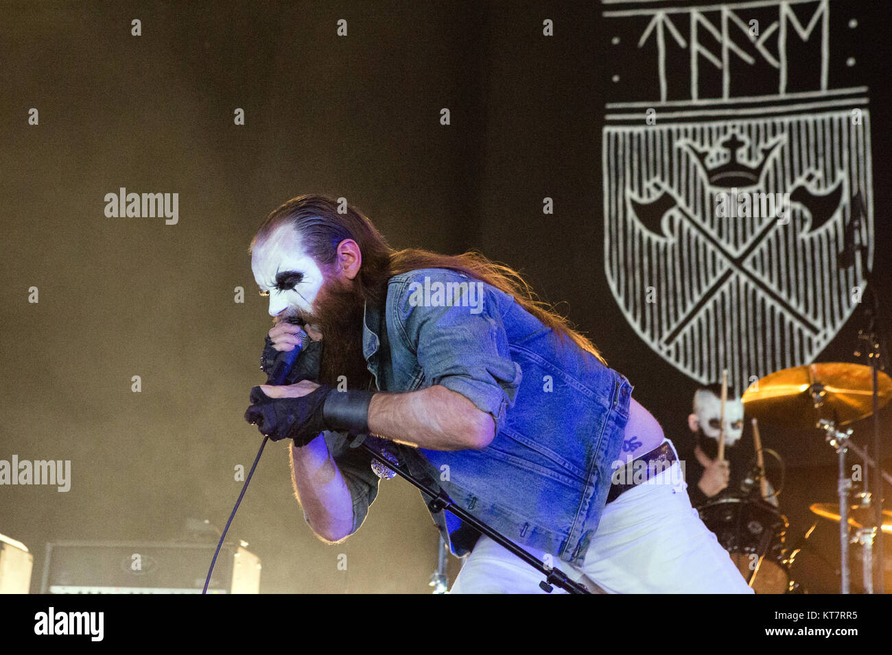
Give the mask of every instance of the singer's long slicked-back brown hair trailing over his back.
POLYGON ((324 195, 308 193, 285 202, 272 211, 260 225, 248 249, 251 252, 260 239, 265 239, 279 225, 290 224, 301 234, 307 254, 320 265, 335 263, 337 246, 352 239, 362 253, 359 268, 359 289, 363 298, 383 302, 387 281, 393 275, 418 268, 450 268, 513 296, 524 309, 553 330, 560 341, 572 340, 582 350, 606 364, 591 340, 576 332, 565 316, 540 300, 530 285, 513 268, 493 262, 475 250, 461 255, 442 255, 430 250, 407 248, 393 250, 372 222, 359 209, 324 195))

